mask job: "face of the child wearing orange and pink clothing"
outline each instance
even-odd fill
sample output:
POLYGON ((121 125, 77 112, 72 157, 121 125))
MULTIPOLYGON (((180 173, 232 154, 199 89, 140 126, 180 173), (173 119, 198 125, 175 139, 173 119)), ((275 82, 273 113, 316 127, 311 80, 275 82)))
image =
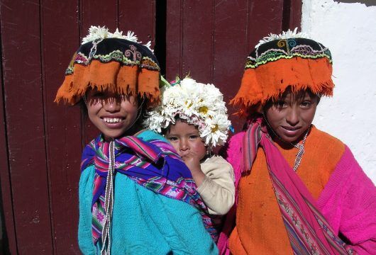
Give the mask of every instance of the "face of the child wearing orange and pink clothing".
POLYGON ((267 107, 267 121, 285 142, 299 142, 314 120, 318 101, 307 91, 300 95, 289 91, 267 107))

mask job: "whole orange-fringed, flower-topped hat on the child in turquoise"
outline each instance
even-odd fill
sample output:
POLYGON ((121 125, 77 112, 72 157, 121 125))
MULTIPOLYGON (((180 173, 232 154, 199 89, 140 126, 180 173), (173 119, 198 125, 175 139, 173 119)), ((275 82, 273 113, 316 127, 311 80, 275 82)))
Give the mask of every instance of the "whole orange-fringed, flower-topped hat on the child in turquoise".
POLYGON ((150 42, 140 44, 133 32, 92 26, 65 71, 65 80, 55 101, 74 105, 87 89, 148 98, 148 106, 159 103, 160 67, 150 42))

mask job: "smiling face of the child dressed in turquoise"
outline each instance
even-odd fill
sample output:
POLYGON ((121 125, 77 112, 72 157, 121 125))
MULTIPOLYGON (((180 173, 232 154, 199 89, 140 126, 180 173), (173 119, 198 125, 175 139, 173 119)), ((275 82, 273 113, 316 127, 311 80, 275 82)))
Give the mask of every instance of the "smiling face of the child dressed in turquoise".
MULTIPOLYGON (((138 115, 134 96, 120 96, 110 91, 87 91, 87 113, 106 141, 126 135, 138 115)), ((133 134, 128 134, 133 135, 133 134)))

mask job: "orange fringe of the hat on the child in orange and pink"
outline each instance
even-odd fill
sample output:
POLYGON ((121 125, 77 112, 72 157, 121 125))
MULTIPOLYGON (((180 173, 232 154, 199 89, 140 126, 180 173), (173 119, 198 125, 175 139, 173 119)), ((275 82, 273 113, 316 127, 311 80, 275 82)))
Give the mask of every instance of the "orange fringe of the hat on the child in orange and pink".
POLYGON ((248 109, 265 106, 270 99, 279 98, 287 88, 292 93, 310 89, 321 96, 333 95, 332 66, 327 58, 268 62, 255 69, 245 69, 240 89, 230 104, 239 108, 236 115, 248 115, 248 109))

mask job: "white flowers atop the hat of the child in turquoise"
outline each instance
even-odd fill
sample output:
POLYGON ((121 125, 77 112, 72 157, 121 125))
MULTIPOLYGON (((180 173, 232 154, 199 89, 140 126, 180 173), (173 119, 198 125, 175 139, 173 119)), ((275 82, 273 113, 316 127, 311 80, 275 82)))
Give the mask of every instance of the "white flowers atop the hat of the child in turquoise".
MULTIPOLYGON (((91 26, 89 28, 89 35, 82 38, 82 44, 105 38, 120 38, 129 40, 131 42, 142 43, 138 41, 137 35, 135 35, 133 31, 128 31, 127 35, 123 35, 123 31, 119 31, 118 28, 116 28, 114 33, 111 33, 109 32, 109 28, 106 28, 106 26, 91 26)), ((148 41, 144 46, 148 47, 148 49, 153 52, 153 50, 150 48, 151 41, 148 41)))

